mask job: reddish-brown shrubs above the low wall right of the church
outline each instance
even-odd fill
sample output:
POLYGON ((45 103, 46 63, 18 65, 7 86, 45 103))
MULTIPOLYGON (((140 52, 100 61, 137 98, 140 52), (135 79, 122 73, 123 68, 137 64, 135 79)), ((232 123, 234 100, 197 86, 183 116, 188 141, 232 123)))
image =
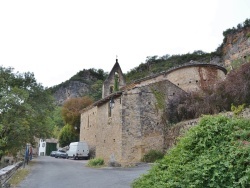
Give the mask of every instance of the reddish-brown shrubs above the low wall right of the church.
POLYGON ((167 111, 171 123, 230 111, 231 105, 250 105, 250 62, 231 71, 225 80, 206 88, 203 93, 180 94, 169 100, 167 111))

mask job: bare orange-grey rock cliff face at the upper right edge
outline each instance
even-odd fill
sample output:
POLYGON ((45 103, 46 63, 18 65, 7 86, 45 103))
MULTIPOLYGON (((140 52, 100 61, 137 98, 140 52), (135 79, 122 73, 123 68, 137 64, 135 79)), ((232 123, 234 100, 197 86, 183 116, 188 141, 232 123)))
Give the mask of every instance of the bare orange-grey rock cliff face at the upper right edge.
POLYGON ((250 27, 228 34, 222 45, 222 59, 228 69, 250 59, 250 27))

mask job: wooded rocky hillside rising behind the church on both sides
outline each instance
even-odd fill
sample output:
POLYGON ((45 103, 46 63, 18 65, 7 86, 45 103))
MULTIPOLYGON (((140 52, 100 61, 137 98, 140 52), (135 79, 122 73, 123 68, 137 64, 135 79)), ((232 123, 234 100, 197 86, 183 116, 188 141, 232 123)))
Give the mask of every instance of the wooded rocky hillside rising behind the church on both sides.
MULTIPOLYGON (((205 63, 219 63, 230 71, 250 59, 250 19, 223 32, 223 43, 211 53, 201 50, 193 53, 148 56, 144 63, 124 74, 126 82, 166 71, 181 66, 190 61, 205 63)), ((122 65, 121 65, 122 67, 122 65)), ((108 73, 102 69, 83 69, 69 80, 50 88, 58 105, 62 105, 68 98, 91 96, 95 101, 101 99, 102 83, 108 73)))

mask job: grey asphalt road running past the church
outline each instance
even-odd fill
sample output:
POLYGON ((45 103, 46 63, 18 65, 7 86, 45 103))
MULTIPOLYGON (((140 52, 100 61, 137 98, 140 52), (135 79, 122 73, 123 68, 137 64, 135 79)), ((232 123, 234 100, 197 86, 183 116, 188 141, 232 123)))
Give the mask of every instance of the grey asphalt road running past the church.
POLYGON ((150 168, 144 164, 131 168, 99 169, 86 167, 87 160, 38 157, 20 188, 128 188, 150 168))

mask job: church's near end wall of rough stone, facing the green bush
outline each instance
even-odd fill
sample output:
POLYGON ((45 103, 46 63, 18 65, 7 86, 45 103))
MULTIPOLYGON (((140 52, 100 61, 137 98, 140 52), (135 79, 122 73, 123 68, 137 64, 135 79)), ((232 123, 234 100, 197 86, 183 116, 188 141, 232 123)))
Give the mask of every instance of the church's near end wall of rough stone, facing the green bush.
POLYGON ((123 96, 122 113, 122 165, 141 161, 150 150, 164 150, 165 137, 162 109, 154 92, 162 93, 163 103, 174 93, 183 92, 171 82, 164 80, 127 91, 123 96))

